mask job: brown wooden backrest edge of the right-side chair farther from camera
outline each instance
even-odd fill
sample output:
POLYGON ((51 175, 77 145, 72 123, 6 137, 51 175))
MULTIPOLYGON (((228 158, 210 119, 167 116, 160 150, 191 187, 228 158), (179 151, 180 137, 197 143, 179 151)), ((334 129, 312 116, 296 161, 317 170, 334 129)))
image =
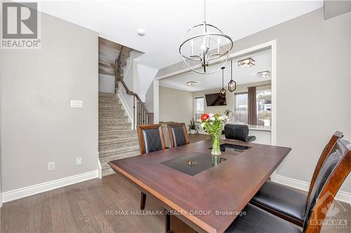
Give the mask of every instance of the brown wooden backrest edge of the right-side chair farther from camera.
MULTIPOLYGON (((342 137, 343 137, 343 133, 336 131, 333 134, 333 136, 331 136, 331 139, 329 140, 329 142, 324 147, 324 150, 322 151, 322 154, 319 157, 319 160, 318 160, 317 165, 316 165, 316 167, 314 169, 314 172, 313 172, 313 176, 312 176, 311 183, 310 183, 310 189, 308 190, 308 194, 307 194, 307 199, 310 197, 310 194, 312 192, 312 188, 314 186, 314 182, 316 181, 316 178, 317 178, 317 176, 319 174, 319 170, 322 168, 322 165, 324 164, 324 161, 326 160, 326 158, 329 155, 331 155, 331 152, 333 150, 335 150, 336 141, 338 141, 338 139, 341 139, 342 137)), ((307 203, 306 203, 306 206, 307 206, 307 203)))

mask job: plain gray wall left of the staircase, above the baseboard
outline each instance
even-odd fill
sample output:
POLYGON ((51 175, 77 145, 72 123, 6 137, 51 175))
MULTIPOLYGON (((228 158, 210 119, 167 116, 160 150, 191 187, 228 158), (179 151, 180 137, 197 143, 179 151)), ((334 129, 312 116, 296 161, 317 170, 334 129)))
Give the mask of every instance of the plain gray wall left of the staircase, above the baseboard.
POLYGON ((1 51, 2 192, 98 169, 98 34, 46 14, 41 31, 41 50, 1 51))

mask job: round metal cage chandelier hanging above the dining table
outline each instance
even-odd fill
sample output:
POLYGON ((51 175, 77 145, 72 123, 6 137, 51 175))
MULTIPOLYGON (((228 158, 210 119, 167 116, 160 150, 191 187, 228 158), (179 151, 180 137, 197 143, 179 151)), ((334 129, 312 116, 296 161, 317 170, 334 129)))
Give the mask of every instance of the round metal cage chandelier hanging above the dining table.
POLYGON ((234 43, 230 36, 223 34, 218 27, 206 23, 205 0, 204 22, 187 30, 183 36, 182 43, 180 43, 179 52, 189 69, 196 73, 207 74, 214 73, 225 66, 233 45, 234 43), (221 44, 224 46, 221 46, 221 44), (223 57, 225 57, 224 62, 223 57), (198 64, 201 64, 201 69, 196 70, 192 68, 192 66, 198 64), (209 66, 212 64, 218 64, 218 67, 210 69, 209 66))

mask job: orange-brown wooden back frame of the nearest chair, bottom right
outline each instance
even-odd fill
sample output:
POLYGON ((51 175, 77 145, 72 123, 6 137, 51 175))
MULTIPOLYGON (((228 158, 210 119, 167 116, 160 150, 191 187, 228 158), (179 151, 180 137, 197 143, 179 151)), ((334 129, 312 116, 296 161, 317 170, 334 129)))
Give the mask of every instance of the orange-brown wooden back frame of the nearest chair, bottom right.
POLYGON ((322 192, 317 198, 311 217, 307 220, 307 225, 305 226, 306 233, 319 233, 321 231, 322 225, 312 225, 311 220, 325 220, 326 212, 329 210, 331 202, 333 202, 340 186, 343 184, 348 174, 350 174, 351 150, 347 148, 345 143, 340 139, 338 139, 338 146, 340 146, 342 150, 343 157, 333 169, 331 176, 329 176, 322 192))

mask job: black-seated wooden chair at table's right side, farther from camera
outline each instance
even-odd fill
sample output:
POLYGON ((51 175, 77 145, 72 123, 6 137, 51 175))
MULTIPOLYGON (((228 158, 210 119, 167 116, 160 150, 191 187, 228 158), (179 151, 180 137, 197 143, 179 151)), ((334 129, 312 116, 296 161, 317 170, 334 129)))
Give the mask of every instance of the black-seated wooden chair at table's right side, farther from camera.
POLYGON ((258 190, 256 195, 251 199, 250 203, 264 209, 279 218, 288 220, 300 227, 303 226, 307 199, 312 193, 312 188, 319 174, 319 171, 333 149, 335 149, 336 141, 343 137, 342 132, 335 132, 331 139, 326 144, 321 156, 314 169, 310 190, 307 195, 304 192, 294 190, 285 185, 280 185, 272 181, 266 181, 265 184, 258 190))

